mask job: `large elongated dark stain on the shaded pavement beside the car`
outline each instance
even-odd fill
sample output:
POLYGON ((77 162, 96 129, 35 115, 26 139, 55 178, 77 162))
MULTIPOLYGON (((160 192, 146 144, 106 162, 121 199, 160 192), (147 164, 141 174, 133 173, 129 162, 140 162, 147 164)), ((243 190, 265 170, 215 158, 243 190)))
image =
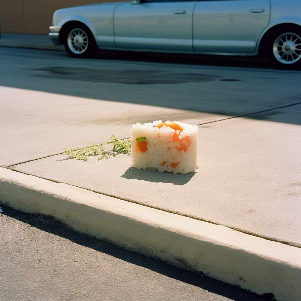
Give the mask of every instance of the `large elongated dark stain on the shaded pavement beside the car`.
POLYGON ((31 70, 45 71, 38 77, 82 80, 87 82, 114 82, 121 84, 154 85, 186 82, 211 82, 219 78, 200 73, 169 73, 161 70, 100 70, 72 67, 43 67, 31 70))

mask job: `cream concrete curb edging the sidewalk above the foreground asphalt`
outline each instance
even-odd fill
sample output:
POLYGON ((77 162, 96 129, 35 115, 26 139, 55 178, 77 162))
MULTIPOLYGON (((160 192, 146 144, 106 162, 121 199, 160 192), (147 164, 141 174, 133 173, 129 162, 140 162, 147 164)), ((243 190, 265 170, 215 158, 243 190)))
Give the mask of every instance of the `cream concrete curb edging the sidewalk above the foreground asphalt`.
POLYGON ((5 168, 0 202, 279 301, 300 300, 300 248, 5 168))

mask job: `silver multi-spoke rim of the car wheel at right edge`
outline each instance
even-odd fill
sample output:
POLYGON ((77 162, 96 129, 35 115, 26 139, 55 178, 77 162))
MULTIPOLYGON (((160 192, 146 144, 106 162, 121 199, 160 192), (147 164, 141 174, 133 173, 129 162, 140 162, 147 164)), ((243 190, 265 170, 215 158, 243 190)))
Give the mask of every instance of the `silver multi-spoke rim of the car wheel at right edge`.
POLYGON ((296 33, 283 33, 275 40, 273 53, 282 64, 296 63, 301 57, 301 38, 296 33))

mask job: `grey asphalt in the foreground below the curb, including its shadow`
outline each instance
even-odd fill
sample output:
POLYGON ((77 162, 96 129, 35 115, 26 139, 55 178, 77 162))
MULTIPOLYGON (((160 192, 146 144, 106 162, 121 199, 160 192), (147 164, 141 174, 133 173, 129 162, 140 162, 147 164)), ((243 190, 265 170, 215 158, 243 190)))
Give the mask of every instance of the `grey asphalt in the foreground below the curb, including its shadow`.
POLYGON ((1 205, 2 301, 262 301, 262 296, 1 205))

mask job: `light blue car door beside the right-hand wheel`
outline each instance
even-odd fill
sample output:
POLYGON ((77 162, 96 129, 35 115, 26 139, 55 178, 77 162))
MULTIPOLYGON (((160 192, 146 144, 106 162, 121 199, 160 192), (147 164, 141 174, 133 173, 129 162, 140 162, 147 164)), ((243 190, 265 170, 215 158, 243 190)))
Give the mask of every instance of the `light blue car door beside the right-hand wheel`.
POLYGON ((194 50, 253 53, 269 20, 269 0, 199 1, 193 15, 194 50))

